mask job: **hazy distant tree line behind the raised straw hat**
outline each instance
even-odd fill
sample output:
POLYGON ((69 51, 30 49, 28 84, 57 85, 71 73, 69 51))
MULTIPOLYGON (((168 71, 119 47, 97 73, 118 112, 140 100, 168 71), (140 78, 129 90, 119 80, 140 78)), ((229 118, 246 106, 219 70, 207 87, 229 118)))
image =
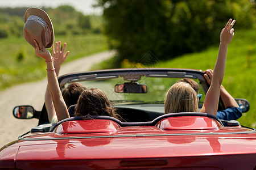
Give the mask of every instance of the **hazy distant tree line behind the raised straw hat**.
MULTIPOLYGON (((0 39, 23 36, 24 14, 27 9, 28 7, 0 8, 0 39)), ((84 15, 69 5, 56 8, 42 7, 42 10, 51 18, 55 35, 102 32, 102 19, 99 15, 84 15)))

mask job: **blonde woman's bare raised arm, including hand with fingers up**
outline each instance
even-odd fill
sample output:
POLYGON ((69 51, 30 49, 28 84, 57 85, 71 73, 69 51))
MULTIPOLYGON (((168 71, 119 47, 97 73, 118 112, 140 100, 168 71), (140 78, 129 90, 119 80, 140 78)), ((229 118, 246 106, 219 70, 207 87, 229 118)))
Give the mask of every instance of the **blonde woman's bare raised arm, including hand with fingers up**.
POLYGON ((228 45, 234 36, 234 28, 232 27, 235 22, 236 20, 233 20, 232 22, 232 19, 229 19, 229 22, 221 31, 220 48, 218 50, 218 57, 213 70, 212 83, 210 84, 210 88, 205 96, 204 105, 200 112, 213 114, 214 116, 217 114, 221 83, 224 78, 226 67, 226 54, 228 52, 228 45))

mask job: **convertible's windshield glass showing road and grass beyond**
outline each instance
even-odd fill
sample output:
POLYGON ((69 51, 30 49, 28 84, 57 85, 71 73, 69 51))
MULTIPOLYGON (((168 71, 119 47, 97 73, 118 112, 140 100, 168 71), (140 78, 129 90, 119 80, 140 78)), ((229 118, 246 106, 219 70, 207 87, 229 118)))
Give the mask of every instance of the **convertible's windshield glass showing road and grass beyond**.
MULTIPOLYGON (((87 80, 84 82, 79 82, 83 84, 86 88, 99 88, 104 91, 108 96, 108 99, 112 101, 114 105, 119 104, 134 104, 134 103, 155 103, 163 104, 164 97, 168 89, 172 84, 176 83, 180 78, 152 78, 142 76, 141 80, 138 80, 139 84, 146 84, 147 93, 142 94, 132 94, 132 93, 117 93, 115 92, 115 84, 127 82, 122 77, 114 79, 105 79, 105 80, 87 80)), ((199 80, 195 80, 199 83, 199 80)), ((200 83, 199 83, 200 85, 200 83)), ((68 84, 65 84, 68 86, 68 84)), ((200 103, 204 101, 204 91, 200 86, 200 94, 203 94, 201 97, 200 103)))

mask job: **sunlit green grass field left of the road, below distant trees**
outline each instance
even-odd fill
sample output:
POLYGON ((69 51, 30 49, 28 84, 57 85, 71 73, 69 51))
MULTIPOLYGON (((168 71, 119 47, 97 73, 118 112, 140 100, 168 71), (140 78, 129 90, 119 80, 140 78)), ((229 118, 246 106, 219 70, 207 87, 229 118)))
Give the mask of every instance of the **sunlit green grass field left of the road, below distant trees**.
MULTIPOLYGON (((66 62, 108 49, 103 35, 55 37, 59 40, 67 42, 66 50, 71 52, 66 62)), ((35 56, 34 48, 23 37, 0 39, 0 44, 0 90, 46 76, 44 61, 35 56)))

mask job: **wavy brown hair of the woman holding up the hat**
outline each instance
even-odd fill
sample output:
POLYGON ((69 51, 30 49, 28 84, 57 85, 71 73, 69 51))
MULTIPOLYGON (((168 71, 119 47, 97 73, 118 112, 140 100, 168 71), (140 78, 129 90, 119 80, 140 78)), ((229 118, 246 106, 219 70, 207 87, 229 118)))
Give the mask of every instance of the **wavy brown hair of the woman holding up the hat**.
POLYGON ((84 90, 77 101, 75 116, 98 115, 111 116, 120 119, 114 105, 106 94, 98 88, 84 90))

